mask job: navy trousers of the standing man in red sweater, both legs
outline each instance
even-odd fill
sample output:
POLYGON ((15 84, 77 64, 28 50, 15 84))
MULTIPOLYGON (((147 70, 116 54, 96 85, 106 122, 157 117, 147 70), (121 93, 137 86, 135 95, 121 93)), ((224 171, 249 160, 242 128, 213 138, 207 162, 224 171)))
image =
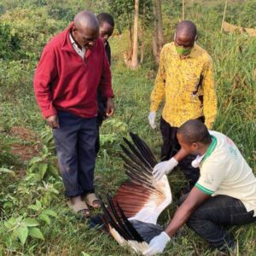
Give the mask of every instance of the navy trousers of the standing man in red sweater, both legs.
POLYGON ((53 134, 66 195, 94 192, 96 117, 84 119, 60 111, 58 118, 60 128, 53 134))

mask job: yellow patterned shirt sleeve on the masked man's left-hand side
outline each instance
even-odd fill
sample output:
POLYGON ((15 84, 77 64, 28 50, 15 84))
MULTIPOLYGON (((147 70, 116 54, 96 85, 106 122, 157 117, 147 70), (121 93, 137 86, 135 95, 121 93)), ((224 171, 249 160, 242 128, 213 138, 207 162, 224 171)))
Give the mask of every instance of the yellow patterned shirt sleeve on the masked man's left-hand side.
POLYGON ((166 69, 165 69, 165 47, 161 50, 159 69, 154 82, 154 89, 150 96, 150 111, 156 112, 160 106, 160 102, 165 96, 166 86, 166 69))

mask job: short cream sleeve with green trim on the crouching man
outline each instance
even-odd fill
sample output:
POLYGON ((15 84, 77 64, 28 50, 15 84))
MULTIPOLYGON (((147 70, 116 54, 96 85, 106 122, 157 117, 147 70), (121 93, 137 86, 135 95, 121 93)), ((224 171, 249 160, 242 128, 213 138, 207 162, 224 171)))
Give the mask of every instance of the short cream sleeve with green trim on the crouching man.
POLYGON ((212 195, 224 181, 228 172, 228 166, 225 160, 211 160, 209 163, 203 163, 201 168, 201 176, 195 187, 206 193, 212 195))

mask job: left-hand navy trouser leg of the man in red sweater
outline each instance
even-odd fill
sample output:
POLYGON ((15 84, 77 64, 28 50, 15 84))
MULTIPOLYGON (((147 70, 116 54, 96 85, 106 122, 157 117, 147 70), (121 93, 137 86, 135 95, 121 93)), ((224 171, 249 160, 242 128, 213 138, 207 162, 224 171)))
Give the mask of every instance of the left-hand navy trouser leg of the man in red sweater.
POLYGON ((79 117, 72 113, 58 113, 60 128, 53 130, 55 148, 66 195, 83 194, 79 185, 77 142, 80 129, 79 117))

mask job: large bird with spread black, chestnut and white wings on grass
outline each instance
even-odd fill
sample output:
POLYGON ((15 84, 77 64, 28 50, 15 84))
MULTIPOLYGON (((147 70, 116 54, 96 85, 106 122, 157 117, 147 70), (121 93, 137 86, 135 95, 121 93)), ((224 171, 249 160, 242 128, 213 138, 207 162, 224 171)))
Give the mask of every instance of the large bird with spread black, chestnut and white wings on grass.
POLYGON ((171 204, 172 193, 166 175, 156 181, 152 176, 157 164, 147 144, 130 133, 132 143, 124 138, 120 145, 124 154, 128 180, 122 183, 116 195, 107 195, 107 205, 100 198, 103 220, 108 232, 121 246, 131 247, 136 253, 148 249, 148 243, 164 230, 157 219, 171 204))

